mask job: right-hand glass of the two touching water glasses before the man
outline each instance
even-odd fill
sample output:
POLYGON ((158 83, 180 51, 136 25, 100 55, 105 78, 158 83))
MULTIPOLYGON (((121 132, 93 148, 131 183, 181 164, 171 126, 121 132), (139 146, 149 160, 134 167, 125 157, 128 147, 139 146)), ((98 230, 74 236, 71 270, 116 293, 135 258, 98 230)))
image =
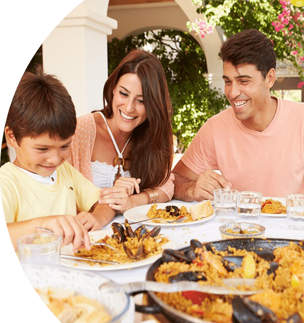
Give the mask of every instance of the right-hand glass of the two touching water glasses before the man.
POLYGON ((238 194, 238 218, 240 222, 259 223, 261 215, 262 193, 240 192, 238 194))

